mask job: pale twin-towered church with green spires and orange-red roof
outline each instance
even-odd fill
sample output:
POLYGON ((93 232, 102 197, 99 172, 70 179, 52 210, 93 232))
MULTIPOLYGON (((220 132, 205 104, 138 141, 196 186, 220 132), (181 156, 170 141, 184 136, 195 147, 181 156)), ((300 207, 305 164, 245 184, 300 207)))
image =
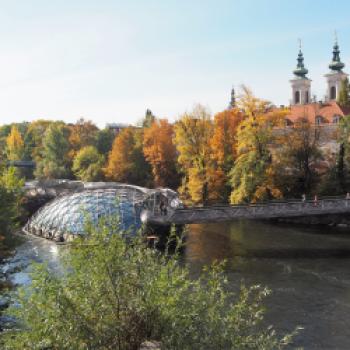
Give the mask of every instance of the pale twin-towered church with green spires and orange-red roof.
POLYGON ((329 64, 326 78, 326 97, 323 101, 311 99, 311 80, 307 77, 308 70, 304 65, 304 56, 299 50, 297 67, 290 80, 292 86, 292 100, 290 113, 286 117, 286 126, 293 126, 297 120, 307 120, 315 126, 336 126, 340 119, 350 114, 350 108, 344 108, 337 103, 341 83, 348 77, 341 62, 339 45, 336 40, 333 46, 333 58, 329 64))

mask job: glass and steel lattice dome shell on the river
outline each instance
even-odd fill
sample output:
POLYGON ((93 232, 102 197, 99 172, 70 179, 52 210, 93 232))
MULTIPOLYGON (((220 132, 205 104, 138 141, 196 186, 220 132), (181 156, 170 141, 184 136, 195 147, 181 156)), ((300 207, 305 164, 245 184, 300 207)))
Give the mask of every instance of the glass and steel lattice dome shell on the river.
POLYGON ((87 221, 96 225, 101 218, 136 232, 141 227, 140 205, 118 189, 83 191, 57 197, 40 208, 24 230, 58 241, 84 233, 87 221))

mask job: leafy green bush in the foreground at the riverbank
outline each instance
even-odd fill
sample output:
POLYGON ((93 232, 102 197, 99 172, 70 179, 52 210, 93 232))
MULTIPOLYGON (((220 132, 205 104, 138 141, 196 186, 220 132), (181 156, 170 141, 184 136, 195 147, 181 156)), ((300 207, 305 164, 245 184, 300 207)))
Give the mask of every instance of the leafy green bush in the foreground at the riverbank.
POLYGON ((163 349, 280 349, 291 341, 261 325, 268 291, 242 287, 234 296, 222 265, 193 280, 177 254, 107 226, 89 231, 68 248, 63 276, 37 267, 11 310, 21 329, 3 335, 4 349, 131 350, 145 340, 163 349))

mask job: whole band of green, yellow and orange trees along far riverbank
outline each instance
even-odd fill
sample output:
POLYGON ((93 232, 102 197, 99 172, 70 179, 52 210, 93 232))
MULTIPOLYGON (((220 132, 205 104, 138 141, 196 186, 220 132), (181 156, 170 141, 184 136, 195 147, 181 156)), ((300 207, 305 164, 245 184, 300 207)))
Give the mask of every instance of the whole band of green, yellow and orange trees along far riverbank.
POLYGON ((191 203, 348 192, 349 119, 331 149, 304 119, 285 128, 286 114, 244 88, 236 107, 214 117, 198 105, 170 123, 148 110, 117 135, 84 119, 11 124, 0 128, 1 159, 34 160, 26 177, 170 187, 191 203))

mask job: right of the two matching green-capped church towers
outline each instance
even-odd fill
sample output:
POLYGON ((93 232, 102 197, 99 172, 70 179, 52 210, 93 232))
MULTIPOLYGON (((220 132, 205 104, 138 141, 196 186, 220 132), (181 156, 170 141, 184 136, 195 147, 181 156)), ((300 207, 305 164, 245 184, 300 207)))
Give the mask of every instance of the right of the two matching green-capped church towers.
POLYGON ((325 75, 327 79, 327 99, 329 101, 337 100, 341 82, 348 76, 343 72, 344 67, 345 64, 340 60, 340 50, 336 39, 333 46, 333 59, 329 64, 330 72, 325 75))

